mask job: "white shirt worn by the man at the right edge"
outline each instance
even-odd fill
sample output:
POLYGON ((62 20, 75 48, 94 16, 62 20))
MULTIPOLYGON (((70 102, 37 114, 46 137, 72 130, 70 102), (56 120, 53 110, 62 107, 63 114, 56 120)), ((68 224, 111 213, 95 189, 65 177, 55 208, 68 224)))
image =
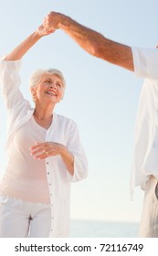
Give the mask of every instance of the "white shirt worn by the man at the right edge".
POLYGON ((158 178, 158 49, 132 48, 134 71, 145 78, 135 125, 131 191, 158 178))

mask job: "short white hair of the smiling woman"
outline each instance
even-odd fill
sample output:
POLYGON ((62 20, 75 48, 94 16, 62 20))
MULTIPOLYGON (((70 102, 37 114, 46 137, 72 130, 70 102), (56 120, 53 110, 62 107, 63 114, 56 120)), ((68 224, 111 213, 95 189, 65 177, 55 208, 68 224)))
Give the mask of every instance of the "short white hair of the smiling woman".
POLYGON ((33 74, 29 78, 29 89, 35 88, 37 83, 41 80, 42 76, 45 74, 54 74, 58 76, 61 80, 63 87, 66 87, 66 81, 64 79, 63 74, 58 69, 37 69, 33 72, 33 74))

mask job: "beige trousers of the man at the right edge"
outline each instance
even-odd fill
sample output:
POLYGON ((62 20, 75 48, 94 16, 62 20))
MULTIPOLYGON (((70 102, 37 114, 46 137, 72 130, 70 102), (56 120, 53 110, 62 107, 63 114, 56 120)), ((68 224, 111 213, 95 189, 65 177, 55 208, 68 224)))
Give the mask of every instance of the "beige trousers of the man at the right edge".
POLYGON ((139 237, 158 238, 158 181, 154 176, 145 187, 139 237))

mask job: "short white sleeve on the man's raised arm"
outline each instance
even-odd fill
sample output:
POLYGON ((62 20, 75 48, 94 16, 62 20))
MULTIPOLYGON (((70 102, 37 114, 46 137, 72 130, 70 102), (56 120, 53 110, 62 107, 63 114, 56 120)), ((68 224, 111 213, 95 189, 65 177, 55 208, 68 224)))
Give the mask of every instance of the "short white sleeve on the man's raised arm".
POLYGON ((158 79, 158 49, 132 48, 132 57, 137 77, 158 79))

